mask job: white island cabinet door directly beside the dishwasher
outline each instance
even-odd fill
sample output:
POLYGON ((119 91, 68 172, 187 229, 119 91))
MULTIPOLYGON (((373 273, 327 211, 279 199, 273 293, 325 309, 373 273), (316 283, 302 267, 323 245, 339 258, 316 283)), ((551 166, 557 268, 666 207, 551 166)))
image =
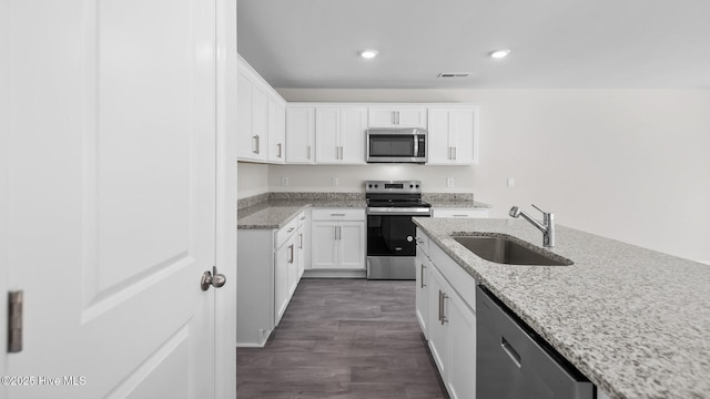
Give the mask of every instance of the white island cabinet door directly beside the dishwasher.
POLYGON ((449 366, 445 378, 452 399, 476 398, 476 315, 450 293, 447 309, 449 323, 449 366))

